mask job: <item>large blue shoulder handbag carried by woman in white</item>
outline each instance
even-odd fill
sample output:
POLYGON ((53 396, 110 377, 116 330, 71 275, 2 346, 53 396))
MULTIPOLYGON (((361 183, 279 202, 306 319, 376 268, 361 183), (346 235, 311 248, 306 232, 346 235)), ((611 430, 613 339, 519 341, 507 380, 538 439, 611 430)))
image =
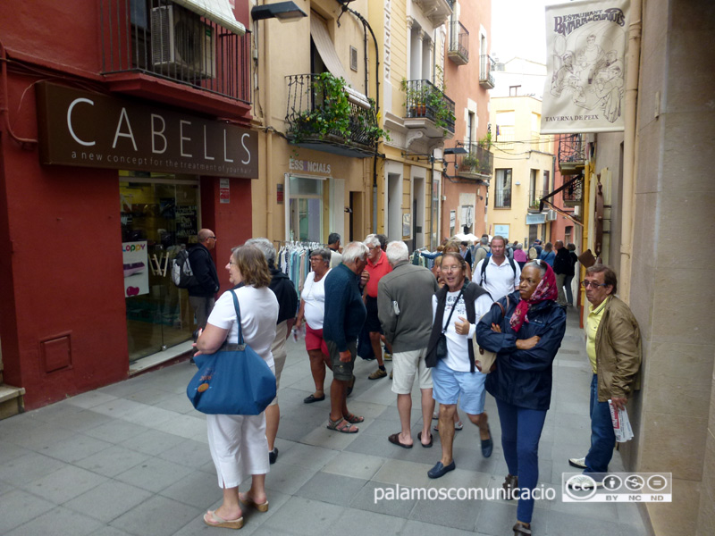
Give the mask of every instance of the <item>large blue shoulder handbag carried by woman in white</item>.
POLYGON ((275 398, 271 367, 243 340, 240 306, 231 291, 239 328, 238 344, 223 343, 214 354, 194 357, 198 373, 189 381, 186 396, 201 413, 260 415, 275 398))

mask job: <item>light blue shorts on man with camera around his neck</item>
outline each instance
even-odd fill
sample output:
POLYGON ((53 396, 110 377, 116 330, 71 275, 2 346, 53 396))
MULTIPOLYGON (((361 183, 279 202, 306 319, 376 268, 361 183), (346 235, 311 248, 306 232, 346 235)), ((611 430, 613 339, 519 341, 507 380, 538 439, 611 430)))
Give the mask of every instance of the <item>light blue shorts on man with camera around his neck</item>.
POLYGON ((484 381, 486 374, 459 373, 453 371, 441 360, 432 369, 432 398, 440 404, 457 404, 463 412, 469 415, 484 413, 484 381))

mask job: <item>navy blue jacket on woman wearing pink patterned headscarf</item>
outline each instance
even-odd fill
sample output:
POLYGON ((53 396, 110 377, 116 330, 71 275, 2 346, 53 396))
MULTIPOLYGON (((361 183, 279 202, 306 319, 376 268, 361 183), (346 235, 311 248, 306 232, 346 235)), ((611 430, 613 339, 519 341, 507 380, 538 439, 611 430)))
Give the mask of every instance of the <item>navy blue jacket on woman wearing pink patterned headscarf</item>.
MULTIPOLYGON (((547 410, 551 405, 551 364, 566 333, 566 312, 551 300, 536 304, 515 332, 509 318, 519 302, 518 290, 509 294, 507 314, 502 318, 501 308, 492 306, 488 314, 476 325, 479 346, 497 352, 497 367, 487 375, 486 390, 494 398, 513 406, 547 410), (501 333, 492 331, 492 322, 501 326, 501 333), (538 344, 530 350, 517 350, 517 339, 538 335, 538 344)), ((507 297, 502 297, 502 306, 507 297)))

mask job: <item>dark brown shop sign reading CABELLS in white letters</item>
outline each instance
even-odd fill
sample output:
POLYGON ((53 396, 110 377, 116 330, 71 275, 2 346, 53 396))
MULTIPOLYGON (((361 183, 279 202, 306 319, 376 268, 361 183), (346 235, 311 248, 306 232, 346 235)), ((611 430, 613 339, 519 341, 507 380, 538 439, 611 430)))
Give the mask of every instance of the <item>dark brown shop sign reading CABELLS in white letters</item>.
POLYGON ((258 178, 255 131, 48 82, 38 84, 40 162, 258 178))

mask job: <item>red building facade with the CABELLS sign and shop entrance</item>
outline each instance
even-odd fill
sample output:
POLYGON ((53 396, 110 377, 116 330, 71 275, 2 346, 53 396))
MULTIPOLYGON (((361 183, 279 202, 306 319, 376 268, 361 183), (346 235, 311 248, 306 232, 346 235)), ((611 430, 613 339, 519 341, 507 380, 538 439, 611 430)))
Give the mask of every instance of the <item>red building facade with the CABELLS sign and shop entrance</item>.
POLYGON ((0 343, 27 408, 190 346, 171 259, 202 227, 228 288, 258 178, 241 30, 168 0, 0 4, 0 343))

